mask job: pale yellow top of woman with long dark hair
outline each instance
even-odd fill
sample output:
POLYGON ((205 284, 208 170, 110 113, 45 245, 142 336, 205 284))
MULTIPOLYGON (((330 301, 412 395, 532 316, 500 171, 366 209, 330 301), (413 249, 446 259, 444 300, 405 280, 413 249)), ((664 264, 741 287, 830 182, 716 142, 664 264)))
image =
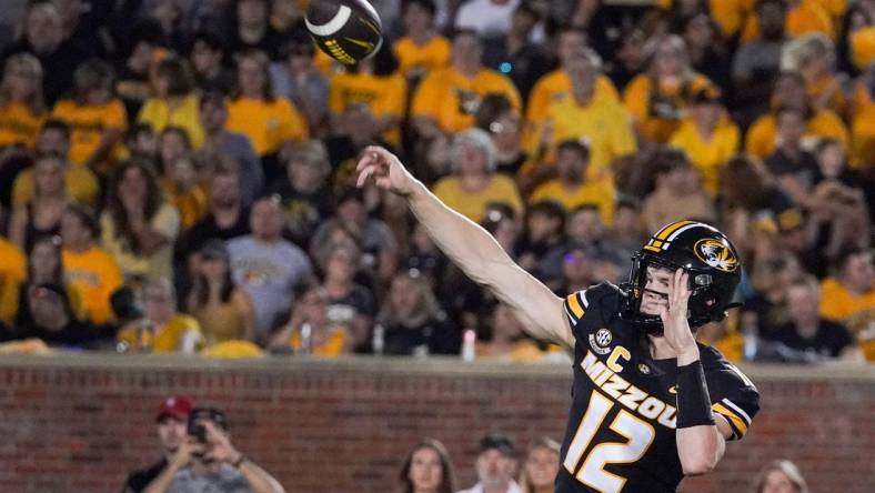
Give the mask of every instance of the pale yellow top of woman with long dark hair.
POLYGON ((109 211, 100 217, 101 243, 118 262, 124 274, 147 274, 171 279, 173 274, 173 240, 179 234, 180 218, 173 205, 162 203, 150 221, 152 229, 170 239, 149 256, 134 253, 124 237, 115 237, 115 225, 109 211))

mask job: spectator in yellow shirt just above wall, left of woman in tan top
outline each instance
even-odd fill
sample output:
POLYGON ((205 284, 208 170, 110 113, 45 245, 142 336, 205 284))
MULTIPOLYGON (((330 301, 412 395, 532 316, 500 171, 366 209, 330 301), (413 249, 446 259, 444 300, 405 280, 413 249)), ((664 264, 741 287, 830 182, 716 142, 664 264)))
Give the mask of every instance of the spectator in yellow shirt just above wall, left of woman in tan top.
POLYGON ((198 321, 177 311, 170 281, 145 278, 142 282, 143 316, 123 326, 117 338, 127 351, 193 354, 203 345, 198 321))

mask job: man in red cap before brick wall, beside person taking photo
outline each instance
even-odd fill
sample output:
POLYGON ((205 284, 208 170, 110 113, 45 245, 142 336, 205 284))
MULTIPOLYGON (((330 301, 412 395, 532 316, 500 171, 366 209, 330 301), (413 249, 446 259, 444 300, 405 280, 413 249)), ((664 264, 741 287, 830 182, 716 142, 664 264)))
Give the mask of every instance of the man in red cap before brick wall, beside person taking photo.
POLYGON ((141 493, 167 469, 180 445, 188 437, 188 422, 194 401, 185 395, 173 395, 164 399, 155 415, 155 431, 161 442, 162 456, 152 465, 131 472, 124 480, 124 493, 141 493))

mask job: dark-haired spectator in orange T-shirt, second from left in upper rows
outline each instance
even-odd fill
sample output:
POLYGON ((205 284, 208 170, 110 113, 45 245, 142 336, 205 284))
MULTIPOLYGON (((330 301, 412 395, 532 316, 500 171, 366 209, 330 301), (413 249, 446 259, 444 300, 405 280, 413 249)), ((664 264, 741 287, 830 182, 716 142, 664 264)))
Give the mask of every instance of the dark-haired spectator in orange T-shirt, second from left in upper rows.
POLYGON ((70 127, 70 163, 108 174, 120 155, 128 127, 124 104, 114 95, 115 73, 100 59, 89 59, 73 73, 73 98, 54 103, 51 118, 70 127))

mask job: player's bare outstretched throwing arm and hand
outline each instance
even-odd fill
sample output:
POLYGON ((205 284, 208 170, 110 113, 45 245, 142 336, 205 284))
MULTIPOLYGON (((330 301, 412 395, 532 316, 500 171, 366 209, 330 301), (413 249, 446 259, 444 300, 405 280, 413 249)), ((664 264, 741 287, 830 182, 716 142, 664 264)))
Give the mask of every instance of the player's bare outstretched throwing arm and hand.
POLYGON ((372 179, 379 188, 406 198, 411 211, 435 244, 467 276, 511 306, 529 334, 574 346, 562 299, 516 265, 486 230, 441 202, 394 154, 369 147, 358 171, 359 187, 372 179))

